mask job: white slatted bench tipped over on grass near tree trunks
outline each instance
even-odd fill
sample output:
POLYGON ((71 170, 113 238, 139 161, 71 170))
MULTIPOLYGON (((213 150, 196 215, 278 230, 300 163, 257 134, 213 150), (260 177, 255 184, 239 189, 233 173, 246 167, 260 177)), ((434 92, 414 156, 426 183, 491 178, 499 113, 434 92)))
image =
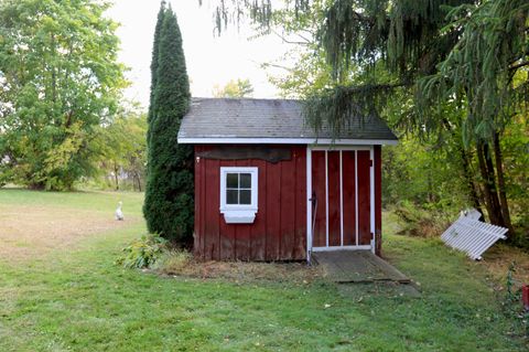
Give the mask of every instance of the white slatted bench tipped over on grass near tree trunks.
POLYGON ((498 239, 506 239, 507 228, 478 221, 476 210, 462 212, 460 218, 442 235, 441 239, 450 247, 465 252, 472 259, 481 260, 482 254, 498 239))

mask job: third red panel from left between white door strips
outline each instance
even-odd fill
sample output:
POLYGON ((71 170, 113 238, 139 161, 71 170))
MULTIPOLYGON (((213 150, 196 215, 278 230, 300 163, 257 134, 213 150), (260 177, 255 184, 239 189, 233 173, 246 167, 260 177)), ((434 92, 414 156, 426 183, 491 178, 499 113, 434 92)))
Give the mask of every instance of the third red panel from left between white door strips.
POLYGON ((344 245, 356 245, 355 151, 342 152, 344 189, 344 245))

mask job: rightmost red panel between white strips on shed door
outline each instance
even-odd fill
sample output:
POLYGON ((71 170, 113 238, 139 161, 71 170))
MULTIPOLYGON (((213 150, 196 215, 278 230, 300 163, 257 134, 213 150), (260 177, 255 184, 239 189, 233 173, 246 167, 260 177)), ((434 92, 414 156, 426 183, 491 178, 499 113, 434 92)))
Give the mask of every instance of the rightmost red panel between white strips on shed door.
POLYGON ((370 166, 369 151, 358 150, 358 242, 369 245, 370 233, 370 166))

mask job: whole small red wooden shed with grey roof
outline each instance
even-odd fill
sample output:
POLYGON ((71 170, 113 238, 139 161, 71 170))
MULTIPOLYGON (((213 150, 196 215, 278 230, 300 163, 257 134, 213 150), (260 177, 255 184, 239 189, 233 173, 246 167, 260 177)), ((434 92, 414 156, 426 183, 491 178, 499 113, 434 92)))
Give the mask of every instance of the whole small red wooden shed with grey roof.
POLYGON ((378 118, 338 137, 306 127, 299 100, 193 99, 179 142, 195 150, 195 256, 380 255, 381 146, 397 137, 378 118))

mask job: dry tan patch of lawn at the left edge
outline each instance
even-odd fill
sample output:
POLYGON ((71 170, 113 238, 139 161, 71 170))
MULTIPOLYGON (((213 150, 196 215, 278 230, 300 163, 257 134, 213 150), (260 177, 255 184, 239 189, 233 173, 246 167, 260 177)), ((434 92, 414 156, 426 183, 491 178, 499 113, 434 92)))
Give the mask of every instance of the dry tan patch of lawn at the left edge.
POLYGON ((127 226, 112 214, 53 206, 0 205, 0 258, 22 260, 52 249, 71 248, 80 239, 127 226))

